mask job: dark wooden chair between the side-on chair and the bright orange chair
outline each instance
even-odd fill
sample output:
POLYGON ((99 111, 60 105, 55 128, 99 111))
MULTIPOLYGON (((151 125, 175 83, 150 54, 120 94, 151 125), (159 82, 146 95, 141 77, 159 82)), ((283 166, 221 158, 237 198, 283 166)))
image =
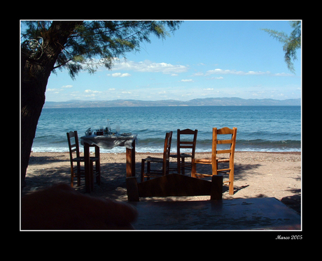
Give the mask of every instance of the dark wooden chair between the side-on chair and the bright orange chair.
POLYGON ((198 130, 177 130, 177 140, 176 140, 176 154, 171 154, 170 157, 176 158, 177 169, 179 174, 186 174, 186 169, 192 169, 193 162, 195 161, 195 148, 197 142, 198 130), (190 140, 186 140, 185 137, 190 136, 190 140), (190 149, 190 153, 181 153, 181 149, 190 149), (180 155, 180 156, 178 156, 180 155), (186 158, 191 158, 190 162, 186 162, 186 158))

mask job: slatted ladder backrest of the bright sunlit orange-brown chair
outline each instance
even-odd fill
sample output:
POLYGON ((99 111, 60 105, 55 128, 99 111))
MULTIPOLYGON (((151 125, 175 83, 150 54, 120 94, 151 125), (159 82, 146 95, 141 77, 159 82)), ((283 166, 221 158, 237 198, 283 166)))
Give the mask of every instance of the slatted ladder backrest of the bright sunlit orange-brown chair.
MULTIPOLYGON (((212 129, 212 163, 213 163, 213 171, 218 172, 221 170, 217 170, 216 157, 217 154, 230 154, 229 163, 230 169, 234 166, 234 156, 235 156, 235 146, 236 146, 236 136, 237 136, 237 128, 213 128, 212 129), (230 135, 230 139, 219 140, 218 135, 230 135), (230 144, 229 149, 218 149, 218 144, 230 144)), ((214 174, 214 173, 213 173, 214 174)), ((216 173, 217 174, 217 173, 216 173)))

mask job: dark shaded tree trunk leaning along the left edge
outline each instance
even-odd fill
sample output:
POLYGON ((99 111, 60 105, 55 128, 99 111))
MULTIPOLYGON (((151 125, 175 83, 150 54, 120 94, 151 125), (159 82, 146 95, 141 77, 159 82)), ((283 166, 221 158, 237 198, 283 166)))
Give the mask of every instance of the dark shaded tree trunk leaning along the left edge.
POLYGON ((67 39, 82 21, 52 22, 47 31, 41 33, 43 54, 38 60, 30 59, 22 53, 21 61, 21 184, 25 177, 36 134, 38 119, 45 103, 45 89, 48 78, 62 52, 67 39))

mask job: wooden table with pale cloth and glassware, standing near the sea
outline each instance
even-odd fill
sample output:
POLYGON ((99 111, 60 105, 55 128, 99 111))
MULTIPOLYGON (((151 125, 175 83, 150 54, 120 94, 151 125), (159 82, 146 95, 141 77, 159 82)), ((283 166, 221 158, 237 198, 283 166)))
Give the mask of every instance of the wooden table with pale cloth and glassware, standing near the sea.
POLYGON ((113 147, 126 147, 126 175, 135 177, 135 141, 137 134, 132 135, 93 135, 80 137, 80 144, 84 145, 85 158, 85 192, 92 191, 90 179, 90 147, 95 147, 95 154, 99 148, 113 149, 113 147))

